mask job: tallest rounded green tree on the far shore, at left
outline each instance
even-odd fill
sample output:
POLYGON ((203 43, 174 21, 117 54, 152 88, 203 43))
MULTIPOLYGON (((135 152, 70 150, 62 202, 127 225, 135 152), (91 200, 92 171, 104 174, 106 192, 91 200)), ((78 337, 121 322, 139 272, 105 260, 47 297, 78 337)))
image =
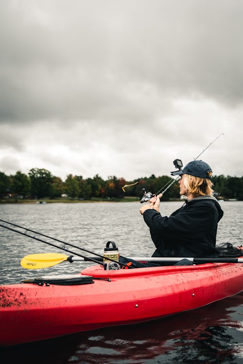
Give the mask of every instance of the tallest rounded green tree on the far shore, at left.
POLYGON ((47 169, 32 168, 29 172, 31 180, 31 195, 37 199, 51 196, 52 174, 47 169))

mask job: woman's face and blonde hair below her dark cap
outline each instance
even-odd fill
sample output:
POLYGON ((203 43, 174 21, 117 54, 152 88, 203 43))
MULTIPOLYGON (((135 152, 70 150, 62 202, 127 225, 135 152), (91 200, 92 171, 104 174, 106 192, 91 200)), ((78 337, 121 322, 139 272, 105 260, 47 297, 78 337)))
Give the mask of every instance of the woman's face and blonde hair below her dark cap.
MULTIPOLYGON (((208 177, 212 175, 212 172, 208 172, 208 177)), ((208 178, 201 178, 191 176, 190 174, 184 174, 184 187, 187 191, 195 196, 212 196, 213 183, 208 178)))

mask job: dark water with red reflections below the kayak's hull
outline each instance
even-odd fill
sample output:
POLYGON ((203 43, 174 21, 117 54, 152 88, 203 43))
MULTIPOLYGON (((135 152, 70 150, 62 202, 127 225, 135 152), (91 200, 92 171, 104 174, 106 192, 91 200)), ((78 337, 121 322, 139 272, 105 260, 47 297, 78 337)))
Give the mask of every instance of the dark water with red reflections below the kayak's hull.
POLYGON ((243 295, 237 295, 161 320, 5 348, 1 354, 6 363, 18 363, 28 353, 35 364, 240 364, 242 302, 243 295))

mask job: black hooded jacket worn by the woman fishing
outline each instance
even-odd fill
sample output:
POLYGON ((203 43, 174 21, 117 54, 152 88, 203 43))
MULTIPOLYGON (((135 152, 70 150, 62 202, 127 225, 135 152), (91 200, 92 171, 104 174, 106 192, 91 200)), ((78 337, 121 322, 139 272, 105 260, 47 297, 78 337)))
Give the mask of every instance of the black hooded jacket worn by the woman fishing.
POLYGON ((143 218, 156 246, 154 257, 217 257, 216 233, 224 215, 217 199, 191 199, 172 215, 148 209, 143 218))

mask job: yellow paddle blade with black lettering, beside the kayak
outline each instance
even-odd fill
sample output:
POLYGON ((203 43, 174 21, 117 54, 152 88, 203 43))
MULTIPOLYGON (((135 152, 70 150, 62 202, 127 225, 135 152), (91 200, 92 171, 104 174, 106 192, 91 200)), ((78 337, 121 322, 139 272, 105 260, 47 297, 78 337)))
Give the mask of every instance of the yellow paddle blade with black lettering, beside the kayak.
POLYGON ((20 265, 27 269, 40 269, 59 264, 67 259, 68 255, 59 253, 31 254, 22 258, 20 265))

